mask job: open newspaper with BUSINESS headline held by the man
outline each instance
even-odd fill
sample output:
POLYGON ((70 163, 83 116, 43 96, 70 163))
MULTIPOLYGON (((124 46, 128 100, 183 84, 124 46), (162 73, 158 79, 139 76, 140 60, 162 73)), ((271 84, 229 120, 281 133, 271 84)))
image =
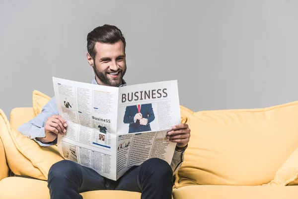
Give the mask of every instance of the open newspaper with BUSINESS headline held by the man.
POLYGON ((108 87, 53 77, 67 132, 58 136, 65 158, 118 180, 149 158, 171 164, 176 143, 167 131, 180 124, 177 81, 108 87))

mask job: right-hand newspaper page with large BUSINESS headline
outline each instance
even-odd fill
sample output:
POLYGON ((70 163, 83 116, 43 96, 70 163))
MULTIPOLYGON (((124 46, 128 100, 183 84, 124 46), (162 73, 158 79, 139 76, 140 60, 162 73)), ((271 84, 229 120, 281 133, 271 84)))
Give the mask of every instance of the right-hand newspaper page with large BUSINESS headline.
POLYGON ((119 88, 117 120, 117 177, 149 158, 171 164, 176 143, 167 131, 179 124, 177 81, 119 88))

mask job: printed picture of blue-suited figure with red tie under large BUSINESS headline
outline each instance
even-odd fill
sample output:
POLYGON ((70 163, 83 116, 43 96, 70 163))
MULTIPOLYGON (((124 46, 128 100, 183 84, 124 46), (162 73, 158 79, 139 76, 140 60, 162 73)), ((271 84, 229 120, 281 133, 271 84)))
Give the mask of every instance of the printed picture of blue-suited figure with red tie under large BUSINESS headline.
POLYGON ((128 133, 150 131, 150 122, 154 120, 152 104, 127 106, 123 122, 129 124, 128 133))

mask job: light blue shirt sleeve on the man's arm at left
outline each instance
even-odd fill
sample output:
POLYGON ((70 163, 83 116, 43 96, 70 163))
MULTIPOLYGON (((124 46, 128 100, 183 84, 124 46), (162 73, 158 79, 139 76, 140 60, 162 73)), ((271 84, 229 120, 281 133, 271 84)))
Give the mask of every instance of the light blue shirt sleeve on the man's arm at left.
POLYGON ((25 135, 26 137, 35 140, 40 146, 51 146, 57 143, 57 139, 53 142, 42 143, 35 138, 45 137, 45 124, 48 117, 52 115, 58 115, 58 108, 56 104, 55 97, 48 101, 48 103, 42 108, 41 112, 28 121, 27 123, 22 124, 17 128, 17 130, 25 135))

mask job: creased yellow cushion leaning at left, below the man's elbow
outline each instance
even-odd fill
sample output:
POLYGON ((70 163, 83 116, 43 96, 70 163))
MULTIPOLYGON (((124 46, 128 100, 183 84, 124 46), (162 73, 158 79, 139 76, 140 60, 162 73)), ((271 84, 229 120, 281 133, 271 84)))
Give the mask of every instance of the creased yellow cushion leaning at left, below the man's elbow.
MULTIPOLYGON (((32 111, 27 108, 23 109, 24 115, 26 115, 26 110, 32 111)), ((19 113, 21 114, 21 112, 19 113)), ((17 175, 47 180, 50 167, 63 160, 57 146, 41 147, 11 127, 3 112, 0 112, 0 115, 0 125, 3 129, 0 130, 0 136, 10 170, 17 175)), ((14 118, 13 120, 17 120, 17 115, 11 114, 11 116, 14 118)))

